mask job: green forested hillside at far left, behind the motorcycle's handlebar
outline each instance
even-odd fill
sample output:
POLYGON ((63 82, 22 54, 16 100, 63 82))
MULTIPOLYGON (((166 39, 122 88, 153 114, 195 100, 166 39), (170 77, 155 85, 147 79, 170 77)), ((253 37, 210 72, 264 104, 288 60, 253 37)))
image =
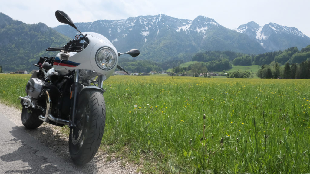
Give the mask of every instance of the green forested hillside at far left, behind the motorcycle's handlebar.
POLYGON ((48 47, 63 46, 69 38, 43 23, 25 24, 0 13, 0 65, 3 72, 31 71, 41 56, 55 56, 48 47))

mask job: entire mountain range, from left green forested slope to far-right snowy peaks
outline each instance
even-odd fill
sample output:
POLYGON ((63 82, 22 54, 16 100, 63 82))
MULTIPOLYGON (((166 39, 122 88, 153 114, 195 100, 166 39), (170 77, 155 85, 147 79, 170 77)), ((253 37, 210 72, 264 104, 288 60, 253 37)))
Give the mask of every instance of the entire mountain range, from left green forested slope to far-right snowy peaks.
MULTIPOLYGON (((292 46, 301 49, 310 45, 310 38, 297 28, 275 23, 261 27, 255 22, 249 22, 231 30, 204 16, 184 20, 159 14, 75 25, 82 32, 104 35, 119 52, 137 48, 141 54, 135 59, 160 63, 179 59, 190 61, 193 54, 202 51, 229 50, 259 54, 292 46)), ((0 65, 4 71, 21 68, 32 70, 32 63, 36 63, 39 58, 36 56, 46 54, 44 50, 48 46, 64 45, 76 33, 77 30, 69 25, 50 28, 43 23, 25 24, 0 13, 0 46, 3 48, 0 50, 0 65)))

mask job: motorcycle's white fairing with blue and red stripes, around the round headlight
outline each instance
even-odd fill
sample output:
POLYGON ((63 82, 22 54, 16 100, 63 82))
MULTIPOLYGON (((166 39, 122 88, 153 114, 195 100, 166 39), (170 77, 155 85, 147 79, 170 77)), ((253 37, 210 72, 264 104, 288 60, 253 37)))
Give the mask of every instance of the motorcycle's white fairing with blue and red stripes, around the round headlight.
MULTIPOLYGON (((84 35, 86 33, 83 33, 84 35)), ((112 45, 112 43, 104 36, 98 33, 89 32, 86 36, 89 39, 89 44, 87 47, 81 52, 69 52, 70 55, 69 60, 60 60, 60 53, 55 57, 55 61, 53 64, 53 68, 55 71, 60 74, 68 74, 69 70, 73 71, 75 69, 84 69, 90 70, 93 72, 98 72, 104 76, 104 79, 107 79, 114 72, 116 65, 118 63, 118 54, 116 48, 112 45), (95 56, 97 50, 102 47, 108 47, 115 52, 116 55, 116 64, 110 70, 102 70, 98 67, 95 61, 95 56)))

